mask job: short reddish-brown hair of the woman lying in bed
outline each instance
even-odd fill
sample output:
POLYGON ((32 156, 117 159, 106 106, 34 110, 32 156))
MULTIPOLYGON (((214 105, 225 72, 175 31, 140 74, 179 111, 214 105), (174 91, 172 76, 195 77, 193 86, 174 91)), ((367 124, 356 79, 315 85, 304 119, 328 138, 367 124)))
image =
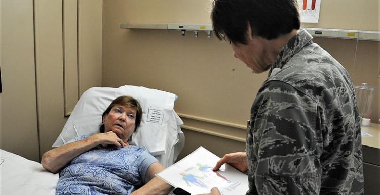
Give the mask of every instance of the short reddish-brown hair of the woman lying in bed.
MULTIPOLYGON (((134 99, 131 96, 120 96, 117 97, 115 100, 111 102, 111 104, 108 106, 108 108, 103 112, 102 118, 109 114, 113 106, 126 106, 128 108, 134 108, 136 109, 136 116, 135 116, 135 131, 137 127, 141 123, 141 118, 142 118, 142 109, 140 106, 140 103, 136 99, 134 99)), ((99 126, 100 133, 104 133, 104 123, 102 122, 99 126)))

